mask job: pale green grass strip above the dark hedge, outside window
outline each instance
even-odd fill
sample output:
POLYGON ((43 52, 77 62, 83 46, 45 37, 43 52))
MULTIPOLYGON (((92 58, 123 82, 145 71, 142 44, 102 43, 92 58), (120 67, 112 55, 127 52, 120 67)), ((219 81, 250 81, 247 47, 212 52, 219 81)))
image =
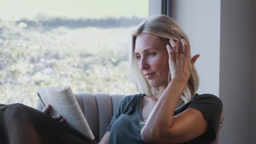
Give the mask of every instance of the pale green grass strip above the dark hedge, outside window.
POLYGON ((0 19, 146 17, 148 0, 0 0, 0 19))

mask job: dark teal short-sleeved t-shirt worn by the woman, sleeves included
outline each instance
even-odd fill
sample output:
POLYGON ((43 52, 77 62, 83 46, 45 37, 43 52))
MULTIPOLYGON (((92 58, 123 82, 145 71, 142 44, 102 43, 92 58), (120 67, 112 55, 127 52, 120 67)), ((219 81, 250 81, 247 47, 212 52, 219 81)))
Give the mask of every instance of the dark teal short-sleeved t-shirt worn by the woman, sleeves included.
MULTIPOLYGON (((141 115, 141 99, 145 94, 136 94, 122 98, 115 109, 106 132, 110 132, 109 144, 147 144, 141 138, 141 129, 145 121, 141 115)), ((188 108, 198 109, 208 120, 210 131, 184 144, 205 144, 214 141, 218 132, 222 112, 222 101, 211 94, 196 94, 184 106, 176 109, 174 116, 188 108)))

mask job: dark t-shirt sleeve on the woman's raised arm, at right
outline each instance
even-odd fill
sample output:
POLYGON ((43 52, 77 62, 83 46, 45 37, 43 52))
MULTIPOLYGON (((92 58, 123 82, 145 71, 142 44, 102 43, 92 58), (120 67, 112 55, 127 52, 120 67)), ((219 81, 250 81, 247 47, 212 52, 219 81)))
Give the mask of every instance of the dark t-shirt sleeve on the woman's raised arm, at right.
POLYGON ((214 141, 218 133, 223 109, 221 99, 211 94, 203 94, 192 99, 187 108, 194 108, 202 112, 209 125, 209 131, 204 134, 204 138, 206 141, 214 141))

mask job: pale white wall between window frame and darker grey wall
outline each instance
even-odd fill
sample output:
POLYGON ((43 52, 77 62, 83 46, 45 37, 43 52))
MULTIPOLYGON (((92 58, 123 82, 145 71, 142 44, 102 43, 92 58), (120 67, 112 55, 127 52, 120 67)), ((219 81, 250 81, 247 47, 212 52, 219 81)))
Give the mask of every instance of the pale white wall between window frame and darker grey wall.
POLYGON ((220 0, 173 0, 173 19, 189 37, 200 77, 198 93, 219 96, 220 0))

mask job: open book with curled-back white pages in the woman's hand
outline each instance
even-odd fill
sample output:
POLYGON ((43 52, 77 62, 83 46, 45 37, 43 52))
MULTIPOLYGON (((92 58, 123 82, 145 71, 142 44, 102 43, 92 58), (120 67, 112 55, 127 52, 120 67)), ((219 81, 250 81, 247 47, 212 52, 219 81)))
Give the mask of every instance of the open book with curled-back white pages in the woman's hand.
POLYGON ((70 127, 83 133, 89 139, 94 139, 91 128, 89 127, 70 86, 64 88, 39 88, 37 90, 37 96, 43 107, 48 104, 51 105, 52 109, 49 111, 49 114, 52 117, 61 115, 70 127))

